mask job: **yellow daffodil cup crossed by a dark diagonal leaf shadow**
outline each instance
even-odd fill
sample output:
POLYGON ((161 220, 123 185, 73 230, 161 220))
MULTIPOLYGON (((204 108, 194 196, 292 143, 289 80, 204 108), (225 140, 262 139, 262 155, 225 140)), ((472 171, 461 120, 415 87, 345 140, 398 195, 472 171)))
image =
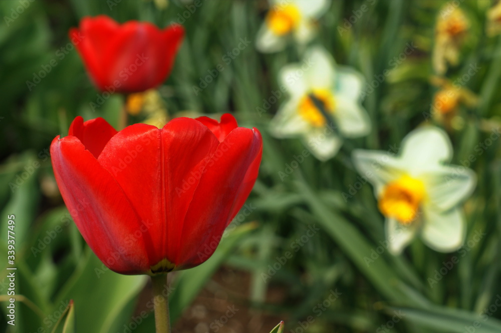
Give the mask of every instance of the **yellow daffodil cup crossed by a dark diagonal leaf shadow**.
POLYGON ((336 102, 327 89, 315 89, 299 101, 299 114, 315 127, 325 126, 327 116, 334 113, 336 102), (324 114, 326 113, 326 114, 324 114))

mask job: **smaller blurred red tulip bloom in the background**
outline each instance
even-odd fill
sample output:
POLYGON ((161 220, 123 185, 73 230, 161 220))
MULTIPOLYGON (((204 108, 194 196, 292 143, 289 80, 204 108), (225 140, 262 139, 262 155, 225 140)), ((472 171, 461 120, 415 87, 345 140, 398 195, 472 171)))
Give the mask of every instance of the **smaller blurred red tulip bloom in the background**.
POLYGON ((101 91, 139 92, 161 84, 183 39, 181 25, 160 30, 149 22, 122 25, 106 15, 84 17, 70 38, 101 91))

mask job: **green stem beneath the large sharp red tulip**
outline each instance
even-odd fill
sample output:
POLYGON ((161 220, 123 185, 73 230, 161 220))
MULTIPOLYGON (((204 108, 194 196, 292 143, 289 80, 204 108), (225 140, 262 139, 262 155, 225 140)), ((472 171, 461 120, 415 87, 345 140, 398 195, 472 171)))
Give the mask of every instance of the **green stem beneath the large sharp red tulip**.
POLYGON ((170 333, 167 274, 151 276, 156 333, 170 333))

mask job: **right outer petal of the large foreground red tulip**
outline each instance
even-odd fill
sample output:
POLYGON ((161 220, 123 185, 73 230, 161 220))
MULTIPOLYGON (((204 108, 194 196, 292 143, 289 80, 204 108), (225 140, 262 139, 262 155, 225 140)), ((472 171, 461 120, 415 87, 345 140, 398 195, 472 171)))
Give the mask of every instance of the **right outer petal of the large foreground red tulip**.
POLYGON ((243 127, 233 129, 219 144, 203 171, 184 218, 176 262, 194 266, 205 261, 215 250, 215 246, 209 245, 207 253, 204 246, 219 241, 231 221, 231 214, 240 209, 241 200, 236 202, 235 197, 238 197, 247 170, 260 154, 261 147, 259 132, 243 127))

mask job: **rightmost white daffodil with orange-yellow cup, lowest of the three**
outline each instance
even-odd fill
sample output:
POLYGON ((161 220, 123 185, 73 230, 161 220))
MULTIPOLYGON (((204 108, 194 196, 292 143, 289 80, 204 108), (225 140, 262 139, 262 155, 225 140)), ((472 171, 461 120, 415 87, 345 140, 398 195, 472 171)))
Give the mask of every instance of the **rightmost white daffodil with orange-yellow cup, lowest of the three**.
POLYGON ((392 253, 400 253, 418 233, 440 252, 463 244, 466 222, 458 204, 471 194, 476 177, 464 166, 447 165, 451 158, 447 134, 433 126, 410 132, 399 156, 353 152, 355 166, 374 185, 379 210, 386 216, 392 253))

